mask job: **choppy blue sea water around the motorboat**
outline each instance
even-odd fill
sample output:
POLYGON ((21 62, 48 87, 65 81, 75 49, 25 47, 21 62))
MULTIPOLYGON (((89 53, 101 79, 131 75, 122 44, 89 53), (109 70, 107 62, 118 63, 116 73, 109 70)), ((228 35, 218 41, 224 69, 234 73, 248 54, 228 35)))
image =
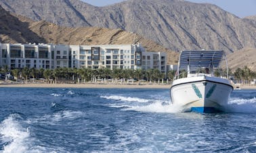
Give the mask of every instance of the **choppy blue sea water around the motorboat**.
POLYGON ((255 152, 256 90, 182 113, 168 89, 0 88, 0 152, 255 152))

